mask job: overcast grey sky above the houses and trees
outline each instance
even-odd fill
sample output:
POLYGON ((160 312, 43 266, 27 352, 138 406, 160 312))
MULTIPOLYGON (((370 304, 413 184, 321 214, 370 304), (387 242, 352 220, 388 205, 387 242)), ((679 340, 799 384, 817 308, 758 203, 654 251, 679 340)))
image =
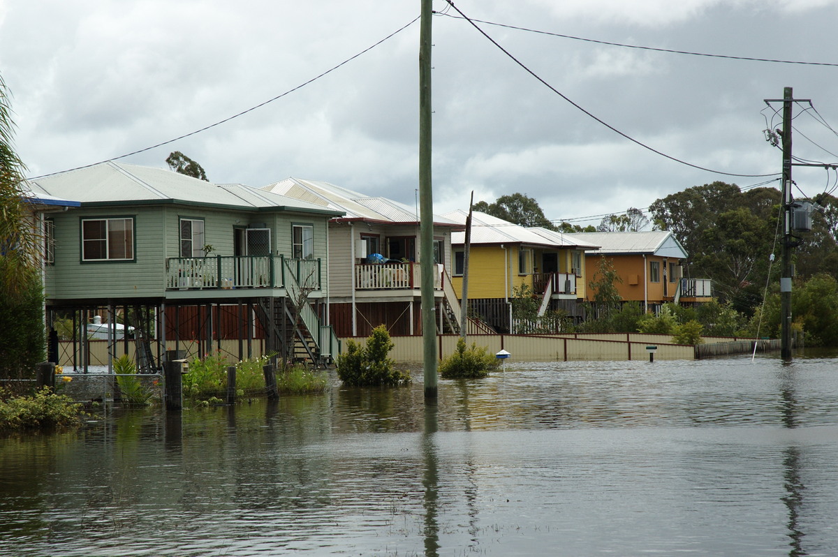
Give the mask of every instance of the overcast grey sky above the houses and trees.
MULTIPOLYGON (((527 70, 434 0, 437 213, 525 193, 548 219, 597 224, 670 193, 769 178, 765 99, 796 99, 794 155, 838 162, 838 0, 458 0, 527 70), (493 24, 494 23, 494 24, 493 24), (501 27, 498 23, 526 28, 501 27), (540 33, 535 33, 535 31, 540 33), (551 90, 551 88, 553 90, 551 90), (573 103, 590 113, 589 116, 573 103), (804 109, 810 109, 805 110, 804 109), (582 217, 591 217, 582 220, 582 217)), ((406 204, 418 188, 419 0, 0 0, 0 75, 29 176, 169 152, 215 183, 289 176, 406 204), (415 23, 411 21, 416 19, 415 23), (406 28, 404 28, 407 26, 406 28), (396 33, 338 69, 327 70, 396 33), (308 81, 313 80, 307 84, 308 81), (290 92, 289 92, 290 91, 290 92)), ((794 168, 798 197, 834 171, 794 168)))

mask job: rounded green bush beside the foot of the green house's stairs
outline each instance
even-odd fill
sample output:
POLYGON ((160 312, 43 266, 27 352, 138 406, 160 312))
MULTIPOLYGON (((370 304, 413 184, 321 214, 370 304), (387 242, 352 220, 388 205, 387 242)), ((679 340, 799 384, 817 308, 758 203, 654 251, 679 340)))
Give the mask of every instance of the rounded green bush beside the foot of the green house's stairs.
POLYGON ((338 377, 348 385, 399 384, 411 380, 409 374, 395 368, 387 354, 393 349, 390 333, 384 325, 375 327, 366 346, 349 340, 346 352, 338 356, 338 377))

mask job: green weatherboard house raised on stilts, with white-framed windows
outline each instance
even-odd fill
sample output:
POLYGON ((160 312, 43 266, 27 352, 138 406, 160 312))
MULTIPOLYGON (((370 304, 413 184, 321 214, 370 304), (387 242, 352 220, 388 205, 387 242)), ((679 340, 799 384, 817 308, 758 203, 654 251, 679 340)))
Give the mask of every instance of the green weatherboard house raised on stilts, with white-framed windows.
POLYGON ((132 332, 149 367, 167 349, 208 353, 221 339, 237 339, 240 358, 255 339, 286 358, 336 356, 323 301, 328 219, 342 212, 117 162, 28 185, 35 198, 79 202, 39 214, 47 324, 71 319, 74 361, 103 313, 132 332))

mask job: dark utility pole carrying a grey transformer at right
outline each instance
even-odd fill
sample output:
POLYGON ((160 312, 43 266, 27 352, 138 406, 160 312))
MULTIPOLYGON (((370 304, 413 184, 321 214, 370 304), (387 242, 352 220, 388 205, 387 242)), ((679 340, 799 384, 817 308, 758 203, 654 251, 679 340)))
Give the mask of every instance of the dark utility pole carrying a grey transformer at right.
POLYGON ((780 358, 791 359, 791 118, 794 96, 792 88, 783 90, 783 243, 780 262, 780 358))

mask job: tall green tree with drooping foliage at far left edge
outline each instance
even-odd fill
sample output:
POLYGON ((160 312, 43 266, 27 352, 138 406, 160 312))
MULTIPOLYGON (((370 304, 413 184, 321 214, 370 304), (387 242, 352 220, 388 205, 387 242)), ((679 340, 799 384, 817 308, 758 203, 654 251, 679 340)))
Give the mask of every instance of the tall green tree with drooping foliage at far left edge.
POLYGON ((25 168, 12 147, 8 98, 0 78, 0 377, 21 379, 44 359, 42 235, 25 200, 25 168))

